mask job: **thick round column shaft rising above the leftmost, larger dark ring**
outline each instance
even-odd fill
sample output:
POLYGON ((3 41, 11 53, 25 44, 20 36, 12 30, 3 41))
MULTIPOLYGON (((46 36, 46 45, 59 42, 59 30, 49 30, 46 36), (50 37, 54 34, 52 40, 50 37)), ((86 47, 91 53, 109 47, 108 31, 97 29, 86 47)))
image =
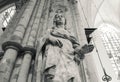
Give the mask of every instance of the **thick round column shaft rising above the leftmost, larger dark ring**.
POLYGON ((37 0, 30 0, 29 4, 27 5, 12 37, 11 40, 13 42, 21 43, 25 34, 25 31, 27 29, 27 26, 30 22, 31 16, 33 14, 33 10, 35 7, 37 0))

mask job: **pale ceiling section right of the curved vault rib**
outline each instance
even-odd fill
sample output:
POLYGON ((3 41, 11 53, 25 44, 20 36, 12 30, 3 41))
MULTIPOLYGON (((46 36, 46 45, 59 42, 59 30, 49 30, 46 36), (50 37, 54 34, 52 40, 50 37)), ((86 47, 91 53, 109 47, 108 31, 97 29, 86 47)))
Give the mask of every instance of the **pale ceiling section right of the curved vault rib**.
MULTIPOLYGON (((97 1, 97 0, 95 0, 97 1)), ((120 0, 103 0, 96 12, 94 25, 108 23, 120 27, 120 0)))

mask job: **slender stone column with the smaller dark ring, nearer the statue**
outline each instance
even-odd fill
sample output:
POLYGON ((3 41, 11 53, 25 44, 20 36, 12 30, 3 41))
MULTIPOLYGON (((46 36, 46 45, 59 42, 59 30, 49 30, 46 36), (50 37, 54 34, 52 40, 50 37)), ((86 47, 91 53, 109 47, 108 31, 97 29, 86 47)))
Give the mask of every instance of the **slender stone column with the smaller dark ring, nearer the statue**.
MULTIPOLYGON (((41 0, 41 1, 38 1, 37 3, 38 3, 38 5, 37 5, 38 7, 35 8, 36 13, 34 14, 34 19, 32 19, 32 22, 31 22, 32 26, 29 27, 30 29, 28 28, 29 33, 26 33, 27 35, 25 36, 25 38, 23 40, 23 45, 25 46, 24 47, 24 59, 23 59, 20 73, 19 73, 18 82, 21 82, 21 79, 22 79, 22 82, 27 81, 31 61, 32 61, 32 59, 35 58, 35 55, 36 55, 35 42, 37 39, 38 31, 41 28, 39 25, 40 25, 41 15, 42 15, 43 6, 44 6, 45 1, 41 0), (28 39, 26 39, 26 37, 28 39)), ((38 72, 38 73, 40 73, 40 72, 38 72)), ((31 76, 32 76, 32 78, 34 77, 33 75, 31 75, 31 76)), ((31 81, 34 80, 32 78, 31 78, 31 81)), ((41 78, 39 77, 39 81, 41 81, 40 79, 41 78)))

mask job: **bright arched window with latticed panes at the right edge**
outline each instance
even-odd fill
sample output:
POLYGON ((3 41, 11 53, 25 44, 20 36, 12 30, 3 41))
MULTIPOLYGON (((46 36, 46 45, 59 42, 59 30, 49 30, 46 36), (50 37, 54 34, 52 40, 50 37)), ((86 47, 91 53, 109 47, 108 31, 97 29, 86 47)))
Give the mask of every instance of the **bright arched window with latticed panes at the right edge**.
POLYGON ((110 24, 102 24, 99 28, 107 55, 115 73, 120 72, 120 31, 110 24))

